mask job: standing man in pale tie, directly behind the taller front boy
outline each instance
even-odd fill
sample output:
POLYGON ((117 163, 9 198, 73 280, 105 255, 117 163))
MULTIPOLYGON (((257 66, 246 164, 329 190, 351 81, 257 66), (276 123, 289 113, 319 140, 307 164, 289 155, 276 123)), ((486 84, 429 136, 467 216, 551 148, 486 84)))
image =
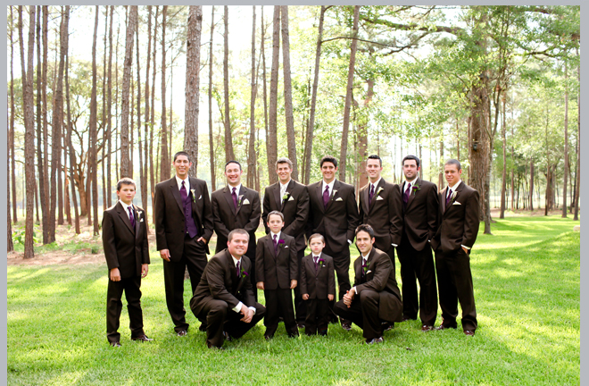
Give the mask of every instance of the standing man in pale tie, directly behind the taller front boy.
MULTIPOLYGON (((270 232, 267 225, 268 214, 272 211, 282 212, 285 216, 283 232, 296 240, 296 256, 298 259, 297 280, 301 274, 301 261, 304 256, 306 243, 304 230, 309 215, 309 193, 302 183, 291 178, 293 163, 285 157, 276 161, 276 173, 278 182, 266 187, 264 191, 263 213, 261 218, 266 228, 266 234, 270 232)), ((300 286, 294 288, 294 310, 296 322, 302 327, 306 317, 306 303, 301 297, 300 286)))

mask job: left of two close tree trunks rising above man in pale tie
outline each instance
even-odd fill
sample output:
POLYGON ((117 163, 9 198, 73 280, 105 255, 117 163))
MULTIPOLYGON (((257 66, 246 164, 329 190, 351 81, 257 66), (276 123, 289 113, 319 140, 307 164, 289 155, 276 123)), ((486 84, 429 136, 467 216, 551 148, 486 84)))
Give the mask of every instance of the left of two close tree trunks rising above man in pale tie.
POLYGON ((280 5, 274 5, 274 21, 272 29, 272 69, 270 72, 270 113, 269 132, 266 142, 266 158, 268 159, 268 180, 273 184, 278 180, 275 164, 278 159, 278 55, 280 54, 280 5))

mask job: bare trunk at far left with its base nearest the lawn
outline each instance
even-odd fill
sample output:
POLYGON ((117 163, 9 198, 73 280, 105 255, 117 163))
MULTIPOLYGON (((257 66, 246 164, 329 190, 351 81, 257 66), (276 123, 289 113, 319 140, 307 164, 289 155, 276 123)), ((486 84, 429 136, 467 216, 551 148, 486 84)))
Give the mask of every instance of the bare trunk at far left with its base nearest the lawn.
MULTIPOLYGON (((24 56, 24 40, 22 39, 22 5, 19 5, 19 42, 21 46, 21 71, 22 71, 22 113, 25 122, 25 159, 35 157, 35 112, 33 101, 33 54, 35 51, 35 6, 29 6, 29 52, 28 58, 24 56), (28 59, 28 61, 27 61, 28 59), (25 63, 27 69, 25 70, 25 63)), ((25 249, 24 257, 35 257, 33 248, 33 209, 35 192, 35 164, 25 164, 25 180, 27 184, 27 214, 25 220, 25 249)), ((24 193, 24 192, 23 192, 24 193)))

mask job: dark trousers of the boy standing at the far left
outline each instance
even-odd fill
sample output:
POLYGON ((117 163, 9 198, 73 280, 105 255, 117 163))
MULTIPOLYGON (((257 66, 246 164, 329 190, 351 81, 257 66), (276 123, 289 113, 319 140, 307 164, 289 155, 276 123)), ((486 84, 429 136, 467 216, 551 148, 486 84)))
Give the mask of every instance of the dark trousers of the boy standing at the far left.
POLYGON ((143 312, 141 311, 141 276, 124 278, 120 281, 108 281, 106 290, 106 339, 109 342, 120 341, 119 320, 122 310, 123 291, 127 298, 127 310, 129 311, 129 328, 131 338, 145 335, 143 331, 143 312))

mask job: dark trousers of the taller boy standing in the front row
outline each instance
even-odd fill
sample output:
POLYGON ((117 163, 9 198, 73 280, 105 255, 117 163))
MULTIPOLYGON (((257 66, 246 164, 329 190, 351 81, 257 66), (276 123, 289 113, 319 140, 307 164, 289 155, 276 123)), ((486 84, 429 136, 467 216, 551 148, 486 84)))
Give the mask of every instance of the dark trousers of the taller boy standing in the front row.
POLYGON ((266 298, 265 337, 273 337, 278 328, 278 315, 282 315, 288 336, 298 336, 299 330, 294 320, 293 296, 290 289, 264 290, 266 298))

